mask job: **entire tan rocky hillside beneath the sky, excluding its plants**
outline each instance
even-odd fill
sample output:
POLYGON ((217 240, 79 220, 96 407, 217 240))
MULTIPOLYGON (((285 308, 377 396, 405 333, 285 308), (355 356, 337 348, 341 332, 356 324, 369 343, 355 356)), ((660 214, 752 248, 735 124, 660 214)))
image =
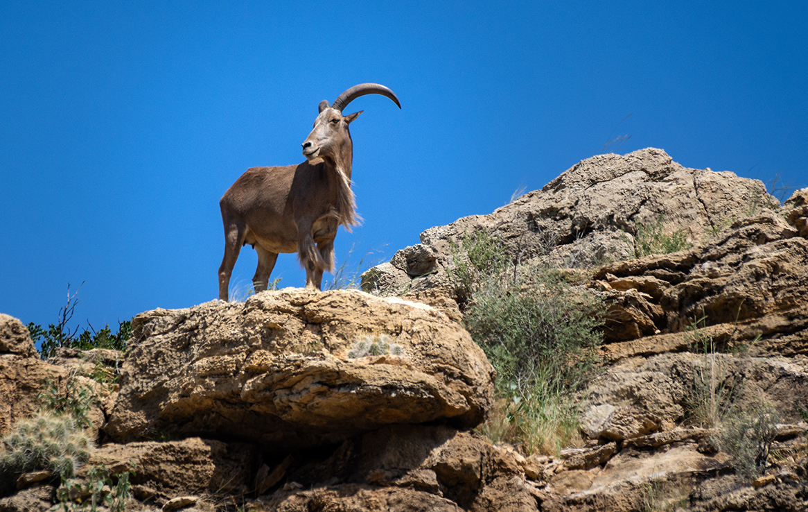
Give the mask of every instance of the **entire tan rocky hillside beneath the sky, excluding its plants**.
MULTIPOLYGON (((758 181, 661 150, 600 155, 493 214, 425 231, 364 276, 403 298, 288 289, 147 311, 125 359, 60 349, 42 362, 3 315, 0 434, 55 375, 60 392, 81 383, 102 404, 104 443, 79 480, 93 465, 134 470, 133 509, 806 510, 808 189, 774 203, 758 181), (634 258, 634 235, 655 222, 690 247, 634 258), (494 375, 447 270, 452 242, 479 229, 608 305, 582 440, 558 454, 473 430, 494 375), (106 379, 99 369, 120 369, 120 392, 90 380, 106 379), (779 415, 752 482, 694 412, 717 392, 779 415)), ((48 510, 58 482, 41 476, 23 475, 0 512, 48 510)))

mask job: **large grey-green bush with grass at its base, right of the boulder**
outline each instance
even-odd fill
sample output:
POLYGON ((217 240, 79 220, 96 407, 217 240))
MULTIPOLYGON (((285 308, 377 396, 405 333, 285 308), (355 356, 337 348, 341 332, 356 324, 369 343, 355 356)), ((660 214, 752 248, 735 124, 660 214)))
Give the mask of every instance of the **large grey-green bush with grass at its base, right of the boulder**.
POLYGON ((543 264, 517 268, 485 231, 462 244, 452 246, 452 280, 465 328, 497 372, 498 405, 478 431, 557 453, 578 436, 574 392, 597 359, 601 303, 543 264))

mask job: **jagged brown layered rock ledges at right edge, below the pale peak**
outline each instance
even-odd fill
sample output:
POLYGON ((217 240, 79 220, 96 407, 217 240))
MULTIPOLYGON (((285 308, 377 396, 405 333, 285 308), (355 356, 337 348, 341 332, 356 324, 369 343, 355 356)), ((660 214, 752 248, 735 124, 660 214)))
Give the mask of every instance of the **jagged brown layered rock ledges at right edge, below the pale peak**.
POLYGON ((687 251, 605 265, 594 279, 610 292, 608 341, 681 332, 696 319, 701 326, 732 325, 743 331, 735 341, 750 341, 765 324, 787 321, 799 353, 808 335, 806 268, 808 240, 781 215, 767 213, 734 222, 713 242, 687 251))

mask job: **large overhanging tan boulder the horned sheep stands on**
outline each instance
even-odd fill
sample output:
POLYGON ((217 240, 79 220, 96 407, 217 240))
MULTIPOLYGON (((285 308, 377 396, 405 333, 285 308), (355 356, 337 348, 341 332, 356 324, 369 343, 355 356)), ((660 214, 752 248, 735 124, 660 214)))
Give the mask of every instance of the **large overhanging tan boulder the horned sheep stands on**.
POLYGON ((118 442, 170 431, 288 450, 384 425, 478 425, 493 396, 493 369, 459 324, 359 290, 266 292, 133 326, 105 428, 118 442), (351 357, 366 338, 401 354, 351 357))

